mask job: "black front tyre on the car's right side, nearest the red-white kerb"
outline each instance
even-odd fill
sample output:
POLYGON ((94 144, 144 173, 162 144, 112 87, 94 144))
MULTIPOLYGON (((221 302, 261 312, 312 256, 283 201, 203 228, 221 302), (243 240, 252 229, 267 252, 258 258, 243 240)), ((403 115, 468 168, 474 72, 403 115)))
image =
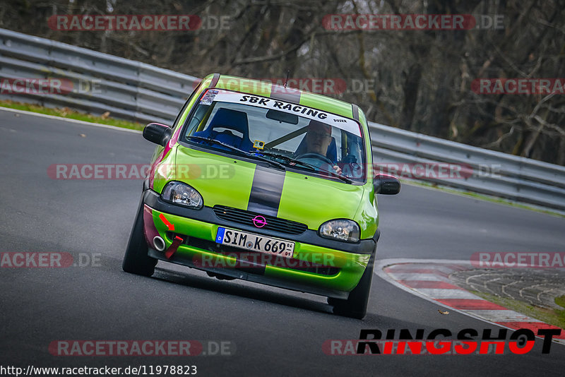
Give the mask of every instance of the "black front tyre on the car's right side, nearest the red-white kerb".
POLYGON ((363 273, 359 284, 349 294, 347 299, 328 298, 328 304, 333 305, 333 313, 339 316, 363 319, 367 314, 369 293, 371 292, 371 281, 373 280, 373 268, 375 253, 371 255, 367 268, 363 273))

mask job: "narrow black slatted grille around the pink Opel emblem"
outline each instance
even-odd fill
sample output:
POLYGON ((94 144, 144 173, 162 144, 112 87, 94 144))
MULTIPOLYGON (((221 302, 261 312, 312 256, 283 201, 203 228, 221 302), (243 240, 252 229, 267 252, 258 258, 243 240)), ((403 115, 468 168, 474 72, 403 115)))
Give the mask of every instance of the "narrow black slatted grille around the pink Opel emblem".
MULTIPOLYGON (((237 208, 226 207, 225 205, 214 205, 214 213, 216 216, 220 217, 222 220, 237 222, 238 224, 253 225, 253 218, 256 215, 261 215, 261 213, 249 212, 247 210, 239 210, 237 208)), ((280 219, 274 216, 266 216, 267 225, 261 227, 261 229, 273 230, 275 232, 281 232, 286 234, 301 234, 306 232, 308 229, 307 225, 300 222, 280 219)))

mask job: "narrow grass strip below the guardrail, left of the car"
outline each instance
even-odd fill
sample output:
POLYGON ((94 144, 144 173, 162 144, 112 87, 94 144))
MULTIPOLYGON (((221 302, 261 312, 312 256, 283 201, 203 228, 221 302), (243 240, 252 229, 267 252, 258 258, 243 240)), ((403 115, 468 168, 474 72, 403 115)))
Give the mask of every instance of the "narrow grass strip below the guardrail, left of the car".
POLYGON ((0 107, 7 107, 8 109, 23 110, 26 112, 37 112, 40 114, 47 114, 53 116, 61 116, 61 118, 76 119, 78 121, 88 121, 90 123, 107 124, 108 126, 116 126, 121 128, 129 128, 133 130, 143 130, 143 124, 124 121, 121 119, 114 119, 110 117, 109 112, 102 114, 102 116, 94 116, 90 114, 85 114, 82 112, 76 112, 69 109, 68 107, 63 108, 50 108, 42 107, 38 104, 25 104, 21 102, 13 102, 10 100, 0 100, 0 107))

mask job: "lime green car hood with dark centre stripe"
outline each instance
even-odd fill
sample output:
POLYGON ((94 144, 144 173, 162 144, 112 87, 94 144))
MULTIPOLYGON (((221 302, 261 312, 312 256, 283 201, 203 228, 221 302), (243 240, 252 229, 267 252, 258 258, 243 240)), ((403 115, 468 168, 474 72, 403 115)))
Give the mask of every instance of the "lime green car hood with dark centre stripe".
POLYGON ((204 205, 227 205, 302 222, 355 220, 363 187, 246 162, 179 145, 177 180, 198 190, 204 205), (184 174, 182 174, 184 172, 184 174))

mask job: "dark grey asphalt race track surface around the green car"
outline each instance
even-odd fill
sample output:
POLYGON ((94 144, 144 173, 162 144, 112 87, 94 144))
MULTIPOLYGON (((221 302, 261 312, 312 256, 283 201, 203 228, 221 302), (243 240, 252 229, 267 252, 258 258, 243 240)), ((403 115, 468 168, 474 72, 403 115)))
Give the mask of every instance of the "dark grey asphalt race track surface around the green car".
MULTIPOLYGON (((196 365, 199 376, 562 375, 565 347, 542 354, 541 341, 525 355, 324 354, 323 342, 357 339, 361 329, 499 329, 460 313, 441 315, 440 306, 377 276, 369 313, 357 321, 331 314, 322 297, 162 262, 150 278, 122 272, 142 181, 57 180, 47 169, 143 164, 152 152, 139 133, 0 110, 1 251, 99 258, 82 268, 0 268, 2 366, 196 365), (225 341, 232 354, 59 357, 48 350, 55 340, 225 341)), ((468 259, 477 251, 565 246, 563 218, 427 188, 380 197, 379 213, 379 258, 468 259)))

